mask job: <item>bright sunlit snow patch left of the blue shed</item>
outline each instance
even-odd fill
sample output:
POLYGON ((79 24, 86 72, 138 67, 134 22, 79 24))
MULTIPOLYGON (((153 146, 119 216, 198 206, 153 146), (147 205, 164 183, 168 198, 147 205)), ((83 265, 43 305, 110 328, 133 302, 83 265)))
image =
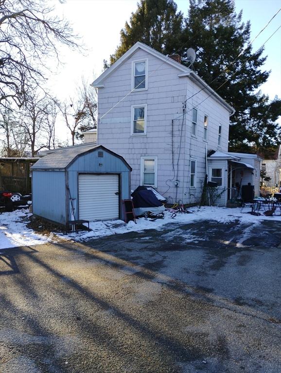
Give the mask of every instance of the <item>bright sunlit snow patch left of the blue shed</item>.
POLYGON ((28 210, 15 210, 0 214, 0 249, 40 245, 52 240, 52 235, 43 236, 27 228, 26 225, 31 215, 28 210))

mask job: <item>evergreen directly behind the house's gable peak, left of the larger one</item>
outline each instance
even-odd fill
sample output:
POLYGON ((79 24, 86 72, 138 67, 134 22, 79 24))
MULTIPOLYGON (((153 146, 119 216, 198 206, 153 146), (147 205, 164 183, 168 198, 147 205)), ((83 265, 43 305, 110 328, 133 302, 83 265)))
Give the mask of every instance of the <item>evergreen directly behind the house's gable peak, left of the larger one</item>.
POLYGON ((130 23, 126 22, 121 30, 121 44, 110 56, 110 64, 137 41, 165 54, 174 53, 179 47, 183 25, 183 15, 176 9, 174 0, 140 0, 130 23))

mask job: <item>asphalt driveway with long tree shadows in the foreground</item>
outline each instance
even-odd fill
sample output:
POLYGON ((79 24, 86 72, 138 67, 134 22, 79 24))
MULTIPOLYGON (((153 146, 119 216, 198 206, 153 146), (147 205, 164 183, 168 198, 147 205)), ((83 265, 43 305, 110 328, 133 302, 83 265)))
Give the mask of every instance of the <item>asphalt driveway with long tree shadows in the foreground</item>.
POLYGON ((1 373, 276 373, 281 222, 0 254, 1 373))

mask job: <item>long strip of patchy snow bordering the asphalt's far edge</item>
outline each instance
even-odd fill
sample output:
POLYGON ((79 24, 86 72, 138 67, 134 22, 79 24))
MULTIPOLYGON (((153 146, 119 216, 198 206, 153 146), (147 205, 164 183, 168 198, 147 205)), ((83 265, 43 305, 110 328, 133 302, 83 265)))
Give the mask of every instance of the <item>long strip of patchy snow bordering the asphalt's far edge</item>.
MULTIPOLYGON (((165 211, 164 219, 155 221, 137 219, 137 224, 130 221, 128 224, 122 220, 96 221, 90 223, 91 231, 79 231, 77 233, 50 234, 50 236, 35 233, 27 227, 31 214, 27 210, 16 210, 14 212, 4 212, 0 214, 0 249, 11 248, 16 246, 30 246, 55 241, 56 238, 66 238, 73 241, 83 241, 89 238, 98 238, 113 234, 123 234, 127 232, 140 232, 145 229, 161 230, 168 223, 192 223, 198 220, 215 220, 220 223, 228 223, 233 220, 240 220, 241 223, 252 222, 257 227, 262 220, 279 220, 280 213, 273 217, 254 216, 247 214, 245 208, 240 212, 240 208, 226 207, 192 207, 192 214, 178 213, 175 219, 171 218, 172 213, 165 211)), ((247 234, 245 232, 245 234, 247 234)), ((245 237, 244 237, 245 238, 245 237)))

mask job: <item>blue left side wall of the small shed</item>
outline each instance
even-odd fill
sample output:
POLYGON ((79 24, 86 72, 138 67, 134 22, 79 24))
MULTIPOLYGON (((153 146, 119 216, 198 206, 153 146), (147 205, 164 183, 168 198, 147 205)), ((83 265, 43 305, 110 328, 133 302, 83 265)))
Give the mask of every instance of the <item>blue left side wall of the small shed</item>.
POLYGON ((66 224, 65 171, 33 171, 33 213, 66 224))

